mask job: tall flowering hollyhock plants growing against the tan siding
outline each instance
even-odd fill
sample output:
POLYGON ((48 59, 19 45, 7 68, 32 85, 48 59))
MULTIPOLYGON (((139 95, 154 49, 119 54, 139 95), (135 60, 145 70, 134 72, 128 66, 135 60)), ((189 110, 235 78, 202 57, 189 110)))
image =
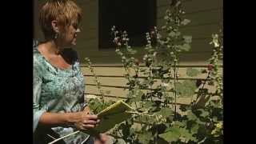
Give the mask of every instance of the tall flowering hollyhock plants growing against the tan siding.
MULTIPOLYGON (((118 141, 122 139, 126 143, 142 144, 159 141, 222 143, 223 90, 222 75, 218 72, 218 60, 222 59, 222 36, 213 34, 210 44, 214 50, 207 70, 188 68, 186 71, 190 77, 207 74, 206 79, 200 80, 199 85, 199 81, 180 81, 180 56, 190 50, 192 42, 191 36, 179 31, 180 26, 190 22, 184 14, 182 1, 170 1, 164 17, 166 24, 160 30, 154 27, 154 30, 146 33, 147 43, 142 61, 134 58, 136 50, 129 46, 128 33, 118 31, 115 26, 111 29, 113 42, 117 46, 116 53, 126 70, 129 90, 126 102, 137 110, 132 118, 111 131, 118 141), (146 77, 142 78, 140 74, 146 77), (161 83, 157 83, 157 80, 161 83), (207 85, 214 86, 215 92, 208 90, 207 85), (181 97, 191 98, 191 103, 178 109, 177 98, 181 97)), ((91 110, 97 113, 111 102, 93 99, 89 103, 91 110)))

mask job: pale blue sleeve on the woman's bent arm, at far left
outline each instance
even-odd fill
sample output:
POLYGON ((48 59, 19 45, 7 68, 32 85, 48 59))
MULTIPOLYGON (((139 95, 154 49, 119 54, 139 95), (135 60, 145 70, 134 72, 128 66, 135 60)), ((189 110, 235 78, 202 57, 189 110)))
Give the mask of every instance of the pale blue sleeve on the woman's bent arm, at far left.
POLYGON ((38 65, 34 62, 33 68, 33 132, 38 127, 39 118, 46 111, 40 109, 39 100, 42 90, 42 78, 39 76, 38 65))

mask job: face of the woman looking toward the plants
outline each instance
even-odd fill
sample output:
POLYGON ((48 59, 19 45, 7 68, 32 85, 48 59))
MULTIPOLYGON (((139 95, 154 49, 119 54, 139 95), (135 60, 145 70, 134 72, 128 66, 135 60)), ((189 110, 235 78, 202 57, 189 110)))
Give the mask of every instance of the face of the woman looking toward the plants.
POLYGON ((78 22, 71 22, 70 26, 66 26, 60 33, 60 40, 63 46, 74 46, 76 45, 77 36, 80 32, 78 28, 78 22))

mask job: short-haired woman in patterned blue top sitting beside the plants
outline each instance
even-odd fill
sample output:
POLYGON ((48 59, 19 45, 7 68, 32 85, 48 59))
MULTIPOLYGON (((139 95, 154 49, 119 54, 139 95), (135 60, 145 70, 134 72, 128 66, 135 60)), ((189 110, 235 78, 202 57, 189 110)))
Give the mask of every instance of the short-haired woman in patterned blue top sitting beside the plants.
MULTIPOLYGON (((48 143, 77 130, 94 128, 99 119, 84 102, 84 79, 78 55, 70 48, 80 32, 81 9, 70 0, 49 0, 39 22, 45 42, 34 46, 34 143, 48 143)), ((95 143, 105 143, 97 136, 95 143)), ((94 143, 79 132, 56 143, 94 143)))

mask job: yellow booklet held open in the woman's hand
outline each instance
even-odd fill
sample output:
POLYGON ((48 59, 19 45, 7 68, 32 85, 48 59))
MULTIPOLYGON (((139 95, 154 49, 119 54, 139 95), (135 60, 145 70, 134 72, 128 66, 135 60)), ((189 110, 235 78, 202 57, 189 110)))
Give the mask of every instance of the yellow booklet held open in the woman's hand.
POLYGON ((126 104, 126 102, 118 101, 113 105, 108 106, 106 109, 98 113, 98 118, 100 118, 100 123, 94 128, 98 133, 105 133, 106 131, 113 128, 116 124, 119 124, 126 119, 131 117, 129 111, 134 111, 131 106, 126 104))

